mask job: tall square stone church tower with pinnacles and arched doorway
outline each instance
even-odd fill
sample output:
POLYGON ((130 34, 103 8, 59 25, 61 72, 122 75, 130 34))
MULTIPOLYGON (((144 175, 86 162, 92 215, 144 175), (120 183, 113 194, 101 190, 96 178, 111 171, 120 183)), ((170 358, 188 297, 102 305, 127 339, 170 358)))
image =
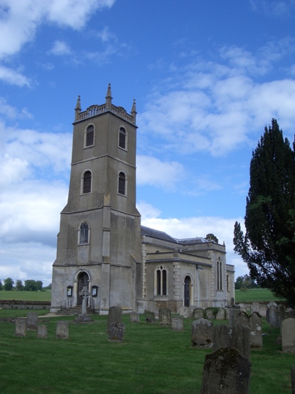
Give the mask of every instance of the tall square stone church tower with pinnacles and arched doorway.
MULTIPOLYGON (((136 209, 136 106, 131 113, 106 102, 73 123, 68 204, 60 215, 53 264, 51 311, 81 304, 87 286, 92 308, 136 310, 142 296, 141 217, 136 209)), ((89 301, 90 302, 90 301, 89 301)), ((88 305, 90 306, 90 305, 88 305)))

